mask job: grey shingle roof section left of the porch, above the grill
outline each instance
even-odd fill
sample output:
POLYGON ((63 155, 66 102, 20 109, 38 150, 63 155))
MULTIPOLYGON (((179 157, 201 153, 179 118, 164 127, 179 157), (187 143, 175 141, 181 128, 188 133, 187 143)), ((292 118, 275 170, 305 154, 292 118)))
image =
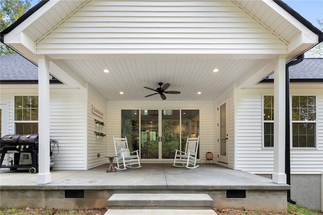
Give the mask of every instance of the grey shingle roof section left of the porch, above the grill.
MULTIPOLYGON (((57 82, 52 76, 49 80, 57 82)), ((0 56, 0 81, 37 83, 38 67, 18 53, 0 56)))

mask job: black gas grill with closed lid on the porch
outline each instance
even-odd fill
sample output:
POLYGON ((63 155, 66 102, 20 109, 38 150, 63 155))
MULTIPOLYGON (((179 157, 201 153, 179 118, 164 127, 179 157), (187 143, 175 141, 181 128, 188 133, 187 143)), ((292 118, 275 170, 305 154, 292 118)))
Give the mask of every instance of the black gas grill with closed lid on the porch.
MULTIPOLYGON (((8 134, 0 141, 0 168, 29 168, 29 173, 38 170, 38 134, 8 134), (6 154, 14 154, 14 158, 9 157, 9 165, 3 165, 6 154), (31 164, 24 164, 24 159, 31 158, 31 164)), ((29 159, 28 159, 29 160, 29 159)))

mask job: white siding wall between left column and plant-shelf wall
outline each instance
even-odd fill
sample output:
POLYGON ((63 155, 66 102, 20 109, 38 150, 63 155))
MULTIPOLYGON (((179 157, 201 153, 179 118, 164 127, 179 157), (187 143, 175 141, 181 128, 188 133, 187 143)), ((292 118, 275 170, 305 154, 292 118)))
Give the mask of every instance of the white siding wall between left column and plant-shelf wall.
POLYGON ((59 142, 53 153, 55 170, 85 170, 86 112, 84 89, 50 90, 50 138, 59 142))

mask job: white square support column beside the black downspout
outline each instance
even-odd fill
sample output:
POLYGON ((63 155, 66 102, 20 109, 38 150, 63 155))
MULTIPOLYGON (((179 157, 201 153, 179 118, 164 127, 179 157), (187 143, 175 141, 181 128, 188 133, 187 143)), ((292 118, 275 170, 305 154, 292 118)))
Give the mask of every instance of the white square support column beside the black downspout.
POLYGON ((275 61, 274 73, 274 173, 273 182, 286 184, 285 174, 285 73, 286 58, 279 56, 275 61))

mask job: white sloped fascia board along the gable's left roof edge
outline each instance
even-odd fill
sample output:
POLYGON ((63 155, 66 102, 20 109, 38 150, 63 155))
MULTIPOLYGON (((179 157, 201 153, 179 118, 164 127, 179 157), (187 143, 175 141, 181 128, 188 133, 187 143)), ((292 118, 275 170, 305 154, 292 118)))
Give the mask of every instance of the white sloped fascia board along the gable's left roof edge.
MULTIPOLYGON (((58 3, 59 3, 59 1, 55 1, 55 0, 52 1, 51 0, 51 1, 47 2, 46 4, 44 4, 41 8, 39 8, 37 11, 35 11, 31 16, 29 16, 22 23, 20 23, 16 28, 14 28, 8 34, 5 34, 4 35, 4 43, 7 44, 7 42, 15 41, 15 38, 17 36, 19 36, 19 34, 21 32, 23 32, 34 21, 36 21, 38 18, 40 18, 42 15, 44 15, 50 8, 54 7, 58 3)), ((7 44, 7 45, 9 45, 9 44, 7 44)), ((33 52, 34 52, 34 50, 33 50, 33 52)))

